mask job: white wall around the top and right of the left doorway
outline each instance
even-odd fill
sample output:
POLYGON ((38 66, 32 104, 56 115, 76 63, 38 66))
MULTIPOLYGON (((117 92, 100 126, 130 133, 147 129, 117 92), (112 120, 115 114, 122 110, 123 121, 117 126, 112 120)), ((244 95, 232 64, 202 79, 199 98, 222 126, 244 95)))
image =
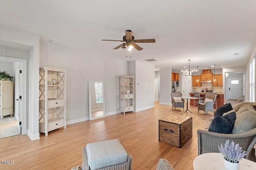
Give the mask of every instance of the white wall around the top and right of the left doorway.
MULTIPOLYGON (((38 109, 39 109, 39 34, 31 33, 21 29, 16 29, 6 25, 0 25, 0 40, 8 41, 12 43, 19 43, 22 45, 29 45, 32 48, 28 54, 28 95, 24 96, 24 100, 27 100, 28 104, 28 136, 31 140, 39 139, 39 123, 38 123, 38 109)), ((2 51, 2 50, 1 50, 2 51)), ((8 55, 8 51, 5 50, 4 57, 15 57, 17 56, 8 55)))

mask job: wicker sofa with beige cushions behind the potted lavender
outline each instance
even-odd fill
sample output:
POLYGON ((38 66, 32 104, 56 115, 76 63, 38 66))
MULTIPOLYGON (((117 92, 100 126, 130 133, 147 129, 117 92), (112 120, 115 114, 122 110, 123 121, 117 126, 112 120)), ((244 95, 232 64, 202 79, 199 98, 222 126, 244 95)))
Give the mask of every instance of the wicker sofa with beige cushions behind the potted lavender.
MULTIPOLYGON (((239 147, 242 147, 242 150, 246 150, 246 153, 247 153, 247 155, 245 156, 246 159, 256 162, 255 149, 254 149, 254 146, 256 145, 256 115, 255 115, 256 102, 239 103, 236 106, 234 106, 233 109, 234 110, 232 111, 236 113, 236 120, 234 123, 234 127, 232 129, 232 133, 230 134, 216 133, 216 132, 208 131, 208 128, 204 130, 199 129, 197 131, 198 155, 208 153, 208 152, 219 152, 218 145, 220 146, 221 144, 224 144, 226 140, 230 140, 230 142, 234 141, 235 144, 238 143, 239 147), (253 106, 254 111, 251 108, 247 109, 245 105, 249 105, 248 107, 253 106), (241 127, 240 125, 238 127, 239 121, 243 123, 246 122, 244 123, 246 127, 241 127), (250 128, 254 127, 253 129, 248 128, 249 123, 250 123, 250 128), (245 131, 244 129, 246 128, 250 130, 245 131), (239 132, 239 130, 241 132, 239 132), (238 131, 238 133, 234 133, 234 131, 236 132, 238 131)), ((232 113, 232 111, 230 111, 230 113, 232 113)), ((212 124, 210 122, 210 126, 211 125, 212 124)))

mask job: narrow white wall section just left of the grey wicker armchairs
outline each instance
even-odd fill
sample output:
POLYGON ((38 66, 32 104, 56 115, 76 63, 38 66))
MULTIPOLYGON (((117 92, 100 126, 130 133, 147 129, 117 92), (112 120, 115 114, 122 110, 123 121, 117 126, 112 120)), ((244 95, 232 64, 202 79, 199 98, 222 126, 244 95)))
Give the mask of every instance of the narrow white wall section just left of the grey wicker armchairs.
POLYGON ((160 104, 171 105, 172 68, 160 68, 160 104))

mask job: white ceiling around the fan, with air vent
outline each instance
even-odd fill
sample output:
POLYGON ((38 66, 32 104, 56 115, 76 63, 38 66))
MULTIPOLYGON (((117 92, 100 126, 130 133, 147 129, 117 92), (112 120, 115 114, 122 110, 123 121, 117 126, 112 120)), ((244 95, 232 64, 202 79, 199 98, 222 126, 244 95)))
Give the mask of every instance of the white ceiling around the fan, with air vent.
POLYGON ((158 59, 150 62, 156 68, 182 70, 188 59, 190 68, 220 68, 246 65, 256 45, 256 0, 0 0, 0 23, 106 57, 158 59), (156 43, 130 53, 101 41, 122 40, 127 29, 156 43))

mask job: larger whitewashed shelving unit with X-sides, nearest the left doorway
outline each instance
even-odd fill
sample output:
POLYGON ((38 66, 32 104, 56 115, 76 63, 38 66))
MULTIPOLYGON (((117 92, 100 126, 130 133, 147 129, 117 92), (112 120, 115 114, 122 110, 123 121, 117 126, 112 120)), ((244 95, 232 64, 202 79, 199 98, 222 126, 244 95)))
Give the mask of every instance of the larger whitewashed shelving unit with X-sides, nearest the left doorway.
POLYGON ((50 67, 39 70, 39 132, 46 136, 54 129, 66 129, 66 72, 50 67))

